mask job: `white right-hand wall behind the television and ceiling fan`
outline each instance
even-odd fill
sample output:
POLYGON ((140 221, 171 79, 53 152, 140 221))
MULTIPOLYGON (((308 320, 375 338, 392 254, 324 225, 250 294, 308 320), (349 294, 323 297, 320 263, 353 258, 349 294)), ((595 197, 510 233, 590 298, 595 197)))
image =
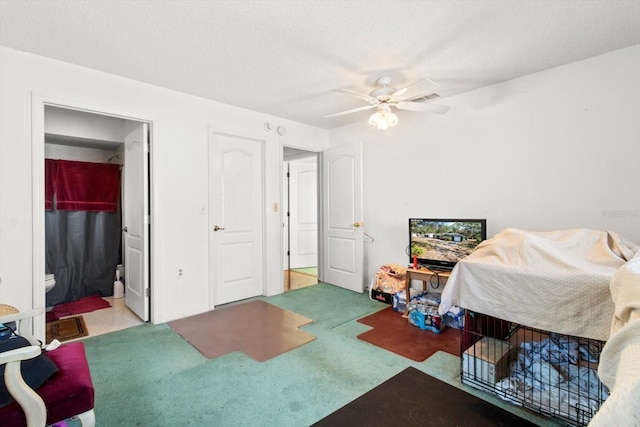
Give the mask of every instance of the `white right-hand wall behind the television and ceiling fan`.
POLYGON ((406 263, 409 217, 507 228, 612 230, 640 244, 640 45, 445 98, 444 116, 400 112, 364 145, 367 281, 406 263))

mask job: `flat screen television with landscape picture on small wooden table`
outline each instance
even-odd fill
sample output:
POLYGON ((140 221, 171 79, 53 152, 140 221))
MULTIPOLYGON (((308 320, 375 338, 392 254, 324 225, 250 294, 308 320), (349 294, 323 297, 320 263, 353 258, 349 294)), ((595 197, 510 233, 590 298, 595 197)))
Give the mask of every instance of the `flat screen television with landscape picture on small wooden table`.
POLYGON ((409 218, 409 263, 451 270, 486 239, 486 219, 409 218))

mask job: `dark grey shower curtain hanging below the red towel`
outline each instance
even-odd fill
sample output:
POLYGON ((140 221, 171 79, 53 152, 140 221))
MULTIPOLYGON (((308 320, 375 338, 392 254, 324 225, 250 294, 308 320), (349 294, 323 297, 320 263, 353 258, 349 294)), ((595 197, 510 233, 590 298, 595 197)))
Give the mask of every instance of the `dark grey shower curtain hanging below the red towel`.
POLYGON ((120 263, 120 204, 117 212, 45 211, 46 272, 56 286, 47 306, 113 295, 120 263))

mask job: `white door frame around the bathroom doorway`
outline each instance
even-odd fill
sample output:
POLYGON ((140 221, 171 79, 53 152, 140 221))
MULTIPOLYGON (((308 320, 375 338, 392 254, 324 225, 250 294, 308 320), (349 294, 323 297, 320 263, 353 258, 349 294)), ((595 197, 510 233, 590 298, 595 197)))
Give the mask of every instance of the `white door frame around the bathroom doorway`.
MULTIPOLYGON (((122 111, 113 111, 101 107, 89 106, 80 102, 72 101, 69 99, 61 99, 58 97, 52 97, 47 94, 32 92, 31 93, 31 301, 34 308, 45 307, 46 298, 44 290, 44 274, 45 274, 45 227, 44 227, 44 134, 45 134, 45 107, 57 107, 66 108, 69 110, 76 110, 85 113, 98 114, 102 116, 111 116, 124 120, 145 122, 149 125, 149 145, 152 145, 154 140, 154 120, 149 117, 142 117, 137 114, 132 114, 122 111)), ((158 153, 156 147, 150 150, 149 156, 149 216, 155 217, 156 209, 156 188, 153 185, 157 182, 157 170, 153 167, 157 164, 156 159, 158 153)), ((155 262, 155 254, 157 253, 156 242, 153 236, 156 235, 155 229, 157 227, 157 221, 152 220, 149 227, 149 286, 153 282, 154 277, 159 277, 157 274, 158 262, 155 262)), ((157 290, 151 292, 150 295, 150 321, 155 323, 156 319, 160 319, 160 292, 157 290)), ((45 341, 45 316, 38 316, 34 319, 33 323, 35 337, 41 341, 45 341)))

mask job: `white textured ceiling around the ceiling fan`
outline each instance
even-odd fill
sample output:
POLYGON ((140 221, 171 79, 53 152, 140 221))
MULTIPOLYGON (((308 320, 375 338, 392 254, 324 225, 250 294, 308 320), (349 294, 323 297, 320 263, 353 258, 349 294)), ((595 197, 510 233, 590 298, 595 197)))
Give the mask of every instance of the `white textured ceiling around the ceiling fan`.
POLYGON ((383 75, 446 104, 639 43, 638 0, 0 0, 0 45, 326 129, 383 75))

